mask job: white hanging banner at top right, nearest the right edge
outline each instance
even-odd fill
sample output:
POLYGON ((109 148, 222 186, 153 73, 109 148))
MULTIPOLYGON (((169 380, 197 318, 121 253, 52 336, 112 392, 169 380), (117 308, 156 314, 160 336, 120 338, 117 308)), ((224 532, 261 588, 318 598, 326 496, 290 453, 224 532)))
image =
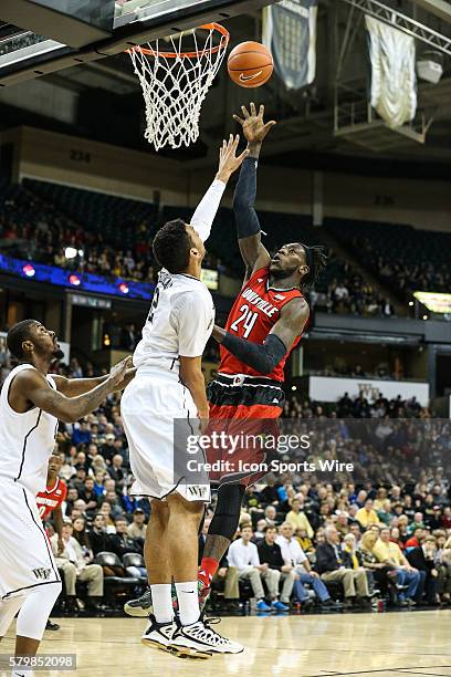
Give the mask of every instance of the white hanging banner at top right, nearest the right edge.
POLYGON ((371 106, 390 127, 417 112, 415 39, 373 17, 365 17, 371 64, 371 106))

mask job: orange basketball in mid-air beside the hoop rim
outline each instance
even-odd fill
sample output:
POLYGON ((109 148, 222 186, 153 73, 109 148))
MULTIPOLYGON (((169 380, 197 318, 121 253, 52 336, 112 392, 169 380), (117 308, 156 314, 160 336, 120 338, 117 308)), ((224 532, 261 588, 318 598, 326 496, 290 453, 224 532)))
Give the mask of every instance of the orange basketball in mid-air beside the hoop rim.
POLYGON ((242 42, 229 54, 229 75, 241 87, 260 87, 274 70, 271 52, 260 42, 242 42))

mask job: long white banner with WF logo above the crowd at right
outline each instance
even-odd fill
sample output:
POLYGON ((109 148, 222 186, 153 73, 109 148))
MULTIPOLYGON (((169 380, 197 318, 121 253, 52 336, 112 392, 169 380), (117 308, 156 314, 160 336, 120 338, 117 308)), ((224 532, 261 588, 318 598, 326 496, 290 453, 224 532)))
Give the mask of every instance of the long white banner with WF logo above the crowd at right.
POLYGON ((374 402, 379 394, 387 399, 417 398, 422 407, 429 405, 429 384, 410 381, 377 381, 376 378, 334 378, 329 376, 310 376, 308 395, 317 402, 337 402, 344 394, 354 399, 363 395, 374 402))

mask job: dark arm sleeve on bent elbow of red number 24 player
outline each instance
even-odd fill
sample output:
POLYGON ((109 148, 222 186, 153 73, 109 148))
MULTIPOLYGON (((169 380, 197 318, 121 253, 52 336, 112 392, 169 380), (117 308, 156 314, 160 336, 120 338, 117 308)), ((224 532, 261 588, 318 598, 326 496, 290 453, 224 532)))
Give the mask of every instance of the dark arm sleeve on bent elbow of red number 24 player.
POLYGON ((275 334, 269 334, 263 345, 252 343, 226 332, 221 345, 232 355, 260 374, 271 374, 286 354, 285 344, 275 334))

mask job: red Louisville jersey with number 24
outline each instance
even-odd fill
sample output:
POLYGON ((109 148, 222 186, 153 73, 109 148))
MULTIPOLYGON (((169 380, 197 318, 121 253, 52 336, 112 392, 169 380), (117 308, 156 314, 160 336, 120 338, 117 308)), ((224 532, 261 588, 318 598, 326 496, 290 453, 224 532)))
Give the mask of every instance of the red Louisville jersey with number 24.
MULTIPOLYGON (((244 284, 230 311, 226 330, 231 334, 247 338, 252 343, 263 344, 274 324, 279 321, 281 310, 293 299, 303 299, 297 288, 276 289, 270 287, 270 267, 255 271, 249 282, 244 284)), ((297 336, 286 355, 274 367, 266 378, 284 381, 283 367, 291 351, 298 344, 297 336)), ((220 374, 243 374, 245 376, 261 376, 259 372, 241 362, 222 345, 220 346, 221 363, 218 367, 220 374)))

